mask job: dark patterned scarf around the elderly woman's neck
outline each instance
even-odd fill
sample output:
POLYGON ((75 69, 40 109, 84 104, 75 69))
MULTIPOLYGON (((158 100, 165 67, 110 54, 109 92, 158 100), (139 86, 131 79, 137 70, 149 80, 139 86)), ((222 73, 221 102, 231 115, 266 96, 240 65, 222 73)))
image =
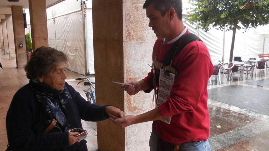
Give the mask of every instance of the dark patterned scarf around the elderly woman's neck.
POLYGON ((30 80, 30 84, 35 92, 38 102, 42 104, 48 120, 56 119, 63 130, 68 131, 70 126, 64 115, 64 105, 72 100, 72 97, 68 92, 67 87, 64 86, 61 91, 54 90, 47 84, 39 82, 38 79, 30 80))

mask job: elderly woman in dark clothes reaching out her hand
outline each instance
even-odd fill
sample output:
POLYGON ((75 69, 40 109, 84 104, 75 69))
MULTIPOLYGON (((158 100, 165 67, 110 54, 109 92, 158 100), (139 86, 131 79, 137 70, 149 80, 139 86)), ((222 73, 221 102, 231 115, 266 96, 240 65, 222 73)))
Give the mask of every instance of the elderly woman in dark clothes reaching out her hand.
POLYGON ((81 135, 69 132, 82 129, 80 119, 101 121, 124 116, 116 107, 91 104, 66 83, 67 59, 63 52, 48 47, 32 53, 25 66, 29 84, 16 92, 6 116, 7 150, 86 151, 86 140, 80 141, 81 135), (45 133, 53 119, 56 125, 45 133))

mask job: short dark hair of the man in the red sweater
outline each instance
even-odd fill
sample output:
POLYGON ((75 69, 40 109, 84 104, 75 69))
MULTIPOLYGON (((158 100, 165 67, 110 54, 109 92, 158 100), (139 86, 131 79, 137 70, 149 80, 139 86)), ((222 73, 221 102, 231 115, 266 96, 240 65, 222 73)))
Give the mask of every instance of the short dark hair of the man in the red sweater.
POLYGON ((182 0, 146 0, 143 5, 143 9, 153 5, 156 10, 159 10, 162 16, 170 9, 171 7, 175 9, 180 20, 182 20, 182 0))

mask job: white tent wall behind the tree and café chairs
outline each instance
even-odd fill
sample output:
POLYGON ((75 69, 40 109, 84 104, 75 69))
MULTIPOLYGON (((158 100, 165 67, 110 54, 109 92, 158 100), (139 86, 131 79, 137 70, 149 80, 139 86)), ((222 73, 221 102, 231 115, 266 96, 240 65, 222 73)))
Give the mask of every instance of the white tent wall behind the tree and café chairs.
MULTIPOLYGON (((186 15, 184 16, 186 17, 186 15)), ((188 30, 197 34, 208 47, 213 63, 217 63, 218 60, 229 62, 232 31, 220 31, 211 28, 208 32, 205 32, 202 29, 195 29, 197 25, 190 24, 185 19, 183 20, 188 30)), ((252 28, 247 32, 237 30, 233 56, 240 56, 243 61, 246 61, 249 58, 259 59, 258 54, 269 53, 268 26, 257 27, 257 29, 252 28)))

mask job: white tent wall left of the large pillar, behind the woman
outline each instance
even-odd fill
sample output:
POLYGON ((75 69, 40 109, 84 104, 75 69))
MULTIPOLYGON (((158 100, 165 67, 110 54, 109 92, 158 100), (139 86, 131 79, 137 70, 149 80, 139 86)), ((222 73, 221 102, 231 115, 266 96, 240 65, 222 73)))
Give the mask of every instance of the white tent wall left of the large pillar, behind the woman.
POLYGON ((66 0, 47 9, 49 46, 66 53, 67 68, 79 74, 94 74, 93 29, 90 8, 66 0), (86 15, 87 14, 87 15, 86 15))

